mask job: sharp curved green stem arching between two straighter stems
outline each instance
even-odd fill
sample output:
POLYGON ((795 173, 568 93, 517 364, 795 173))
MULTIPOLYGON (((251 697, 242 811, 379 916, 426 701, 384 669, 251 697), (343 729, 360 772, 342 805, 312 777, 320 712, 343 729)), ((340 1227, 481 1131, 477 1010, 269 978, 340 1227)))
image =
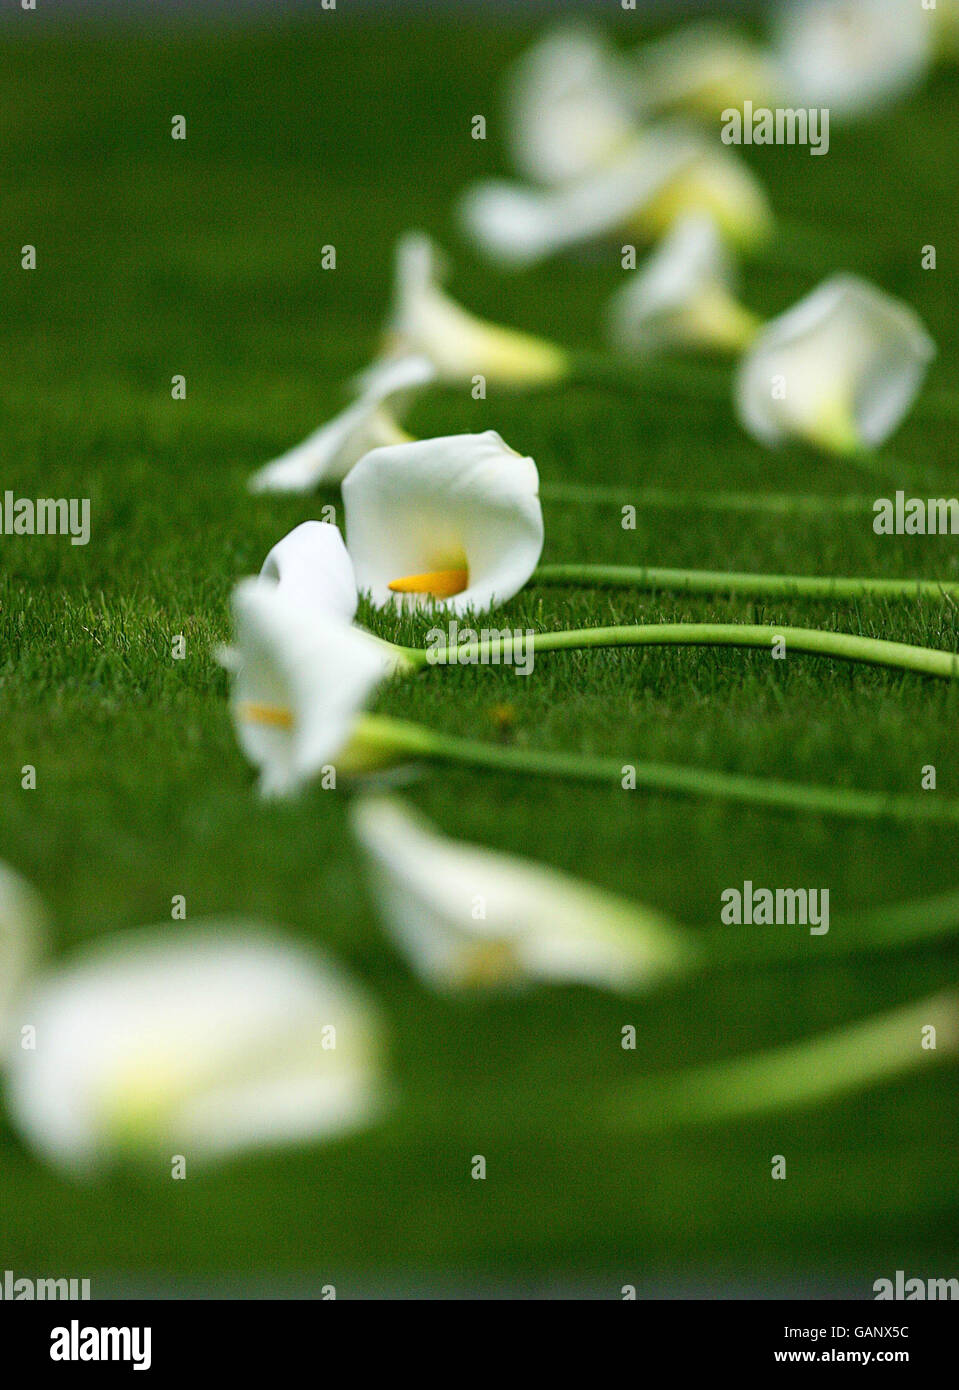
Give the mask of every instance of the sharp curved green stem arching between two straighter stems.
POLYGON ((921 676, 959 676, 959 656, 878 637, 830 632, 812 627, 760 627, 748 623, 639 623, 630 627, 584 627, 567 632, 542 632, 530 638, 509 635, 460 642, 456 646, 404 649, 416 666, 499 666, 535 657, 539 652, 581 652, 613 646, 744 646, 771 651, 778 641, 785 652, 831 656, 844 662, 917 671, 921 676))

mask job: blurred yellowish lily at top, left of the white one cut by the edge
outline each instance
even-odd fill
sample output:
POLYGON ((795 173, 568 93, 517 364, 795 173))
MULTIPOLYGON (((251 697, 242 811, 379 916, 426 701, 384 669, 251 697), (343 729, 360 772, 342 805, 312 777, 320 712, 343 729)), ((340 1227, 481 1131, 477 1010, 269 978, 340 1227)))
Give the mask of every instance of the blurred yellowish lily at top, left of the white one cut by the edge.
POLYGON ((646 111, 684 110, 709 120, 746 99, 771 104, 781 93, 773 54, 717 19, 644 43, 631 67, 637 104, 646 111))

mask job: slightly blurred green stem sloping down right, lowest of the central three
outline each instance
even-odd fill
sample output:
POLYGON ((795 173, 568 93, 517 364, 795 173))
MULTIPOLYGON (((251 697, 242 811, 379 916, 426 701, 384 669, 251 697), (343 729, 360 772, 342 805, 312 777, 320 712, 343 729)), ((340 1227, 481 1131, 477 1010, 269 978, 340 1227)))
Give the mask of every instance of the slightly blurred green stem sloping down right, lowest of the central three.
POLYGON ((809 812, 837 816, 844 820, 959 824, 959 802, 937 801, 934 796, 855 791, 845 787, 778 781, 771 777, 748 777, 742 773, 723 773, 675 763, 642 763, 582 753, 503 746, 459 738, 454 734, 441 734, 423 724, 386 716, 364 716, 357 723, 356 733, 364 749, 381 755, 381 762, 423 758, 429 762, 481 771, 520 773, 532 777, 592 783, 617 791, 625 791, 624 783, 628 780, 630 790, 635 787, 635 790, 687 796, 712 796, 741 805, 809 812))

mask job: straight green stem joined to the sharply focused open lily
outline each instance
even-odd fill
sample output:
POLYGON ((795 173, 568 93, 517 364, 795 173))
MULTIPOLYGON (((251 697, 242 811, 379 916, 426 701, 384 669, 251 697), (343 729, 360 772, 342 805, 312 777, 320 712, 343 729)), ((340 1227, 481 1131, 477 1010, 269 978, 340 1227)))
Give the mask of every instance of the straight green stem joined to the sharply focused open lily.
POLYGON ((763 599, 864 599, 959 596, 956 580, 828 578, 819 574, 737 574, 724 570, 663 570, 634 564, 541 564, 538 584, 625 588, 674 594, 742 594, 763 599))

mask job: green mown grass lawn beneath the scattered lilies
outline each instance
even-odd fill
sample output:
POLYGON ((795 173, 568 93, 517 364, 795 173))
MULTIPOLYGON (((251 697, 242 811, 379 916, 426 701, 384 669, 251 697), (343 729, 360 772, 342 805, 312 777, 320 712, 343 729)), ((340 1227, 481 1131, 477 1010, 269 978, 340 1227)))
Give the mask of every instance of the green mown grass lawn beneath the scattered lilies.
MULTIPOLYGON (((949 1273, 959 1113, 949 1068, 819 1109, 631 1138, 584 1119, 607 1086, 778 1047, 959 977, 959 940, 874 958, 737 972, 646 998, 543 990, 436 999, 385 942, 345 795, 263 805, 213 662, 235 578, 314 499, 252 498, 249 473, 339 407, 375 350, 395 236, 434 232, 477 311, 598 346, 616 247, 510 278, 459 242, 450 204, 502 170, 496 85, 521 29, 336 17, 270 31, 0 32, 6 229, 0 488, 90 496, 93 535, 0 541, 0 856, 47 901, 57 947, 170 917, 274 920, 322 942, 378 994, 409 1108, 321 1150, 260 1155, 186 1183, 71 1186, 0 1127, 0 1268, 115 1277, 309 1279, 341 1295, 396 1280, 557 1276, 713 1287, 949 1273), (36 36, 35 36, 36 35, 36 36), (486 145, 470 118, 491 117, 486 145), (170 139, 172 114, 188 139, 170 139), (39 265, 19 270, 19 246, 39 265), (338 247, 338 268, 320 249, 338 247), (170 378, 183 373, 188 399, 170 378), (188 659, 170 656, 175 634, 188 659), (38 788, 21 791, 33 763, 38 788), (620 1048, 634 1023, 635 1052, 620 1048), (470 1179, 486 1155, 489 1177, 470 1179), (774 1154, 785 1182, 770 1180, 774 1154)), ((955 492, 956 83, 940 75, 830 154, 752 152, 788 231, 744 274, 771 314, 830 268, 910 300, 940 345, 919 407, 870 466, 769 453, 721 395, 602 386, 436 393, 420 434, 496 428, 545 482, 888 495, 955 492), (805 229, 805 231, 803 231, 805 229), (940 268, 923 272, 920 247, 940 268), (841 259, 837 261, 837 254, 841 259), (952 396, 949 392, 952 391, 952 396), (955 418, 951 418, 951 409, 955 418), (926 411, 923 414, 923 411, 926 411), (877 481, 878 480, 878 481, 877 481)), ((719 370, 719 368, 717 368, 719 370)), ((713 379, 714 373, 702 379, 713 379)), ((694 378, 699 379, 699 378, 694 378)), ((545 562, 959 578, 948 538, 885 538, 870 516, 762 516, 546 503, 545 562)), ((834 627, 959 649, 951 603, 751 603, 530 588, 499 619, 560 628, 641 621, 834 627)), ((491 624, 492 626, 492 624, 491 624)), ((409 626, 381 620, 385 635, 409 626)), ((959 798, 959 689, 820 659, 731 651, 557 653, 510 670, 431 671, 381 712, 517 746, 959 798), (498 731, 509 703, 513 726, 498 731)), ((599 787, 423 769, 409 796, 450 834, 719 924, 745 878, 828 887, 833 933, 862 909, 956 887, 956 840, 735 810, 599 787)), ((731 929, 735 930, 735 929, 731 929)), ((766 931, 789 931, 769 927, 766 931)), ((799 930, 799 929, 795 929, 799 930)))

